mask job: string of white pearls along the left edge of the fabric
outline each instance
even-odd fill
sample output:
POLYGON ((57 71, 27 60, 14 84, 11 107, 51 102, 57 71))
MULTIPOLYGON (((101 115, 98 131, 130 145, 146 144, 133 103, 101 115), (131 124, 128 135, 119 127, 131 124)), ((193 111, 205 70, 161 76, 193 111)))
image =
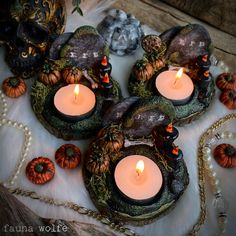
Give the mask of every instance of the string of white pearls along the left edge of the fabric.
POLYGON ((31 133, 29 127, 24 125, 23 123, 18 123, 16 121, 12 121, 10 119, 7 119, 7 111, 8 111, 7 102, 6 102, 6 98, 5 98, 5 95, 3 94, 2 90, 0 90, 0 105, 2 107, 2 109, 0 111, 0 127, 4 126, 4 125, 9 126, 9 127, 14 127, 18 130, 23 131, 24 135, 25 135, 24 143, 21 148, 20 158, 17 162, 17 165, 16 165, 13 173, 11 174, 11 176, 4 183, 5 186, 9 187, 9 186, 14 185, 15 181, 17 180, 17 177, 19 176, 19 173, 20 173, 21 168, 24 164, 24 161, 28 157, 29 149, 30 149, 31 142, 32 142, 32 133, 31 133))

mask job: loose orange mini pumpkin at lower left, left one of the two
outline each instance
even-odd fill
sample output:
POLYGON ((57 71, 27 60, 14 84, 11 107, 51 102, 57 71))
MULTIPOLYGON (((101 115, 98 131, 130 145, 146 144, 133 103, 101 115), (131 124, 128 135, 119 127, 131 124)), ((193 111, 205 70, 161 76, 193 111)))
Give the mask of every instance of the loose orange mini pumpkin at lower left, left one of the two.
POLYGON ((34 184, 45 184, 55 174, 55 166, 47 157, 37 157, 26 166, 26 176, 34 184))

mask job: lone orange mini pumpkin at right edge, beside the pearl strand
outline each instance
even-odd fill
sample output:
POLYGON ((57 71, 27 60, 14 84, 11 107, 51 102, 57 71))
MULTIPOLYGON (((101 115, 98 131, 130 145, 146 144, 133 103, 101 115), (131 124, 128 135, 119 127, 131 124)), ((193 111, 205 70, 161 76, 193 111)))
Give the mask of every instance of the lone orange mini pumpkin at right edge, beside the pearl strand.
POLYGON ((236 148, 230 144, 222 143, 213 152, 214 158, 224 168, 236 167, 236 148))

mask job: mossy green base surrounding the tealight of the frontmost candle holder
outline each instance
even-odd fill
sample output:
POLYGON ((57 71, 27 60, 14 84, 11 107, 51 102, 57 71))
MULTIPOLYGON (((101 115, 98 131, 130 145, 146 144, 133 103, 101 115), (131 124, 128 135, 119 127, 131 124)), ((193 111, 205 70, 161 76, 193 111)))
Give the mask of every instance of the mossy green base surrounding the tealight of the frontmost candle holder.
POLYGON ((171 210, 189 183, 189 176, 184 160, 174 161, 174 163, 172 160, 172 163, 170 163, 170 161, 165 159, 165 157, 160 159, 160 154, 156 155, 155 148, 147 145, 136 145, 123 148, 120 153, 120 159, 134 154, 144 155, 152 159, 159 166, 162 172, 162 188, 151 202, 144 204, 135 203, 127 200, 115 185, 113 177, 114 169, 120 159, 116 160, 116 162, 111 161, 110 171, 103 174, 103 176, 94 177, 94 175, 84 168, 83 175, 85 185, 97 208, 109 217, 112 217, 113 220, 125 223, 129 222, 135 225, 149 223, 166 214, 168 210, 171 210), (163 165, 163 159, 166 160, 165 162, 167 165, 171 165, 171 168, 166 168, 166 166, 163 165), (97 188, 91 187, 91 181, 94 181, 95 179, 98 182, 102 182, 96 183, 96 186, 106 186, 103 191, 98 191, 97 188), (178 193, 172 191, 171 183, 173 180, 181 181, 183 184, 182 191, 178 193))

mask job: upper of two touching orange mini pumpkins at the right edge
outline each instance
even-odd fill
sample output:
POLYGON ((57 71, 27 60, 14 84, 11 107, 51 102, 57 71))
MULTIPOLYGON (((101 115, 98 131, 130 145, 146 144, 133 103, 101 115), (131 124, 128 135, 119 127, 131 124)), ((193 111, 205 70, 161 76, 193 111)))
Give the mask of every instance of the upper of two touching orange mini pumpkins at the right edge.
POLYGON ((236 90, 236 73, 222 73, 216 79, 216 86, 221 90, 236 90))

